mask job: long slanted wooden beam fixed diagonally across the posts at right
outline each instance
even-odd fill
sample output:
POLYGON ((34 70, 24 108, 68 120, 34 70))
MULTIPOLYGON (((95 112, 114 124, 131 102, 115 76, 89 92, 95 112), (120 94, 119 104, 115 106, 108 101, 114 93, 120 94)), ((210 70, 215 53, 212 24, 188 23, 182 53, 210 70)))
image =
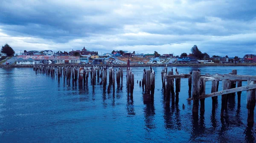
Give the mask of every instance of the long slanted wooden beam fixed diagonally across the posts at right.
MULTIPOLYGON (((214 97, 214 96, 218 96, 218 95, 223 95, 223 94, 229 94, 229 93, 236 93, 239 91, 244 91, 244 90, 252 90, 252 89, 256 89, 256 84, 251 84, 251 85, 247 85, 247 86, 243 86, 243 87, 236 87, 236 88, 232 88, 229 90, 222 90, 222 91, 218 91, 215 93, 209 93, 206 95, 200 95, 199 99, 201 98, 209 98, 209 97, 214 97)), ((187 100, 193 100, 192 98, 187 98, 187 100)))

